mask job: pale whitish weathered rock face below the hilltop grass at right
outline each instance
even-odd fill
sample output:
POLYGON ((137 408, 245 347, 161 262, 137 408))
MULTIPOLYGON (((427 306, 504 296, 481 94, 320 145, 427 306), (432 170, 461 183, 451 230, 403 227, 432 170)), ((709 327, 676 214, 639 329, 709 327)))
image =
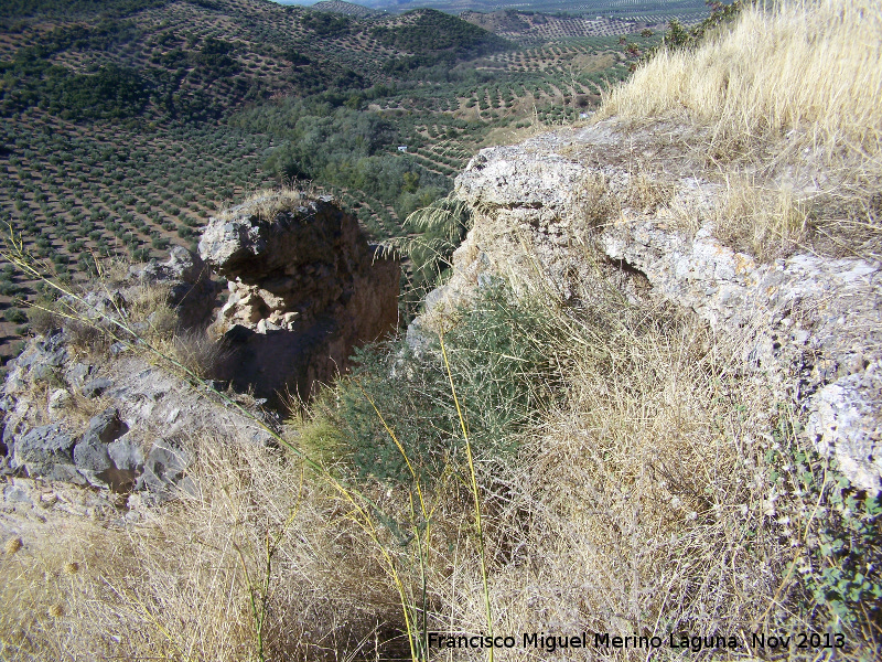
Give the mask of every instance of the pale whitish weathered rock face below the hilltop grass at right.
POLYGON ((492 274, 561 300, 590 296, 600 275, 633 302, 675 302, 741 339, 743 363, 808 415, 818 450, 857 487, 881 490, 882 268, 808 254, 760 264, 727 247, 712 225, 720 186, 665 149, 599 124, 482 150, 455 183, 474 227, 409 341, 419 344, 447 305, 492 274), (639 178, 635 153, 649 164, 639 178), (700 229, 678 231, 678 214, 700 229))

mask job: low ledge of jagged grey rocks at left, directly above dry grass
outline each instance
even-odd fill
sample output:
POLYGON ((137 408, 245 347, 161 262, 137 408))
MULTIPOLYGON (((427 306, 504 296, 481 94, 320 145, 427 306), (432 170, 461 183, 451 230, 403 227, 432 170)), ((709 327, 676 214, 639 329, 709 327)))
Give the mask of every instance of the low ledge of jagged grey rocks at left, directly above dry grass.
POLYGON ((0 391, 0 474, 141 492, 157 501, 193 489, 193 436, 267 444, 265 426, 277 426, 275 417, 224 406, 133 353, 93 364, 75 352, 60 330, 32 341, 9 364, 0 391))

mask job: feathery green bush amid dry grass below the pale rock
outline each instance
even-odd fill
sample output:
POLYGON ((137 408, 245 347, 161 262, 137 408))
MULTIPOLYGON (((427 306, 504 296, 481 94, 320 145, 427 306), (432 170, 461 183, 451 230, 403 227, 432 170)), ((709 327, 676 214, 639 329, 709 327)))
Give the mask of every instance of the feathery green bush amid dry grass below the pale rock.
MULTIPOLYGON (((513 435, 538 421, 561 385, 547 351, 559 325, 548 309, 515 299, 499 284, 456 317, 444 345, 473 452, 505 461, 516 450, 513 435)), ((410 480, 402 451, 421 481, 462 466, 464 441, 440 341, 421 342, 416 351, 405 339, 359 351, 352 376, 336 387, 330 414, 363 477, 410 480)))

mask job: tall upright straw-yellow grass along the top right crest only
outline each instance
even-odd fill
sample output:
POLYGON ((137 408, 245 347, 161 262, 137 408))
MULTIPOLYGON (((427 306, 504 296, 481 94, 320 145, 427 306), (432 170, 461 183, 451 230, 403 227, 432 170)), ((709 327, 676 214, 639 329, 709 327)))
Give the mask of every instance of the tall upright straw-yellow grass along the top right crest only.
POLYGON ((882 140, 880 34, 871 0, 752 7, 695 52, 662 51, 601 113, 686 114, 712 127, 712 139, 795 130, 828 159, 849 151, 873 159, 882 140))

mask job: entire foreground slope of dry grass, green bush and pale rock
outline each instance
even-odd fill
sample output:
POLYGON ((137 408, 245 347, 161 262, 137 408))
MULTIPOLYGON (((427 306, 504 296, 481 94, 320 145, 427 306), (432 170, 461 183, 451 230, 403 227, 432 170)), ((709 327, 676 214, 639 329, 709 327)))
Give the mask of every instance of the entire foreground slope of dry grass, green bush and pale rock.
MULTIPOLYGON (((55 505, 67 485, 8 478, 3 642, 36 659, 874 660, 873 9, 747 9, 584 125, 481 151, 421 216, 434 237, 469 232, 407 337, 292 402, 267 445, 194 434, 175 499, 84 492, 85 524, 55 505), (853 82, 853 102, 836 94, 853 82), (820 102, 788 110, 809 83, 820 102)), ((36 367, 7 386, 50 417, 36 367)))

